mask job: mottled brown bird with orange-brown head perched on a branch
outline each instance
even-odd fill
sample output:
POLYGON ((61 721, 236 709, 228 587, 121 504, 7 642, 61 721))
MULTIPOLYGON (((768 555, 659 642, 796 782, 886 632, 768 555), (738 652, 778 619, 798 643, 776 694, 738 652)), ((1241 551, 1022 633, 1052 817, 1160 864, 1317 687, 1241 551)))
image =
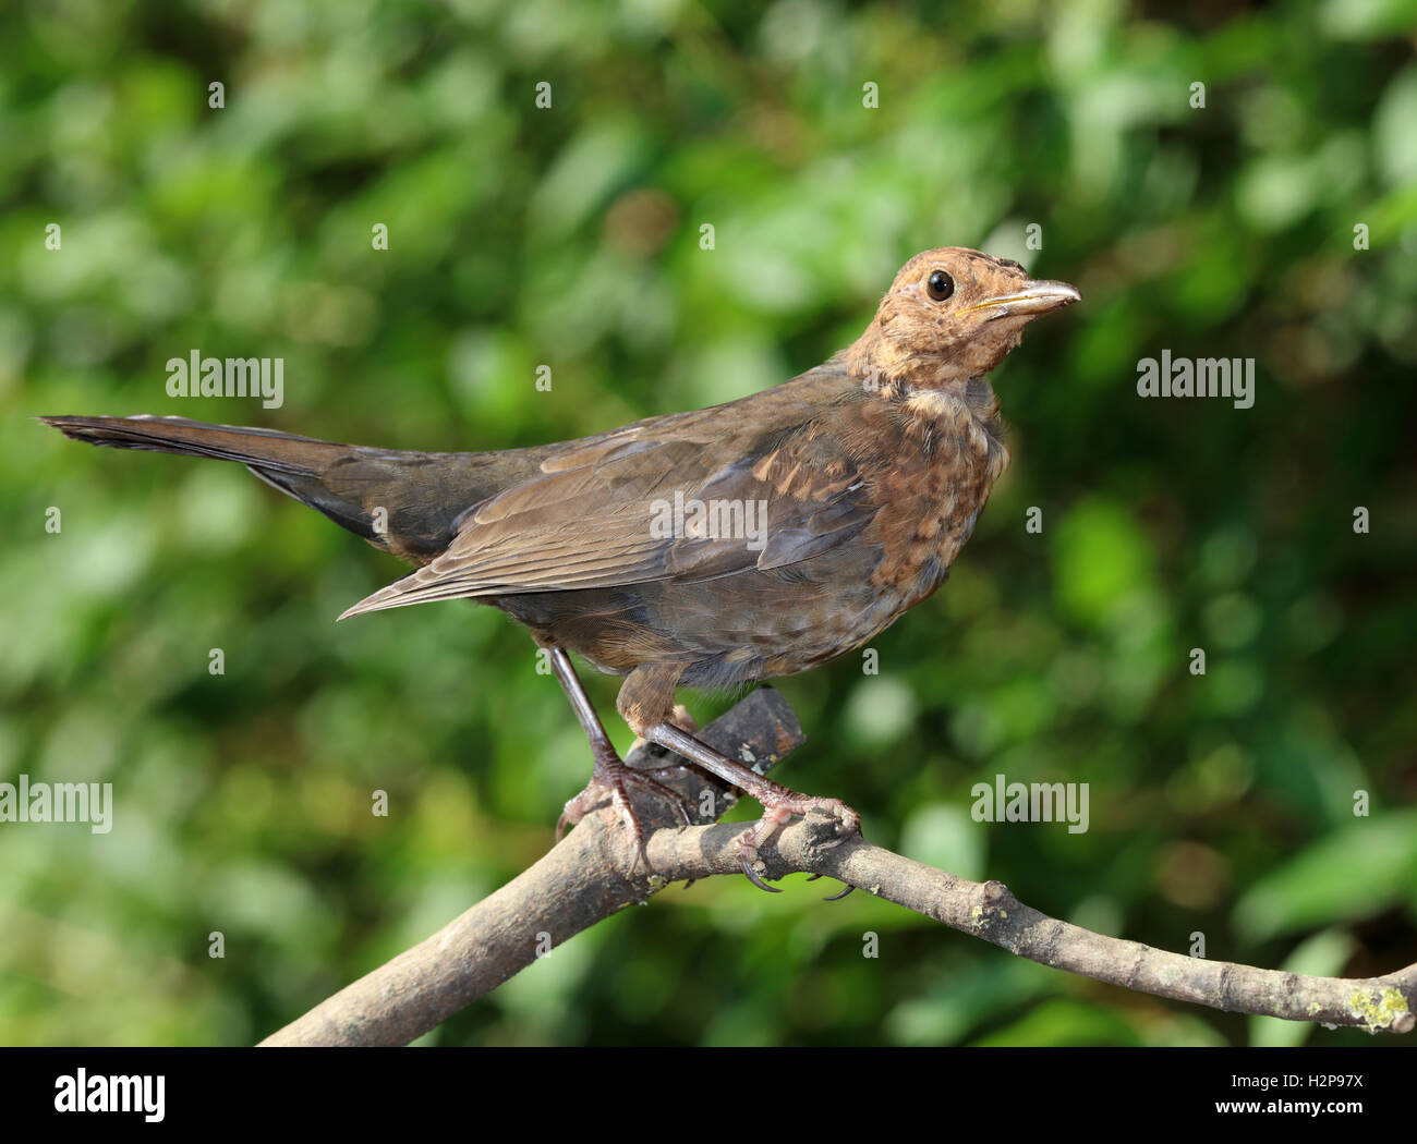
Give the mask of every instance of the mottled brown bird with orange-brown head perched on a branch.
POLYGON ((608 796, 642 858, 626 787, 670 799, 684 823, 687 806, 625 767, 567 653, 625 677, 616 707, 636 735, 762 804, 738 848, 771 889, 752 864, 782 823, 825 810, 840 842, 860 816, 701 743, 674 722, 676 690, 805 671, 939 588, 1009 462, 986 374, 1033 319, 1080 297, 1017 262, 925 251, 860 338, 801 377, 533 449, 412 453, 184 418, 44 421, 92 445, 241 462, 419 566, 344 616, 468 597, 526 624, 595 759, 557 834, 608 796))

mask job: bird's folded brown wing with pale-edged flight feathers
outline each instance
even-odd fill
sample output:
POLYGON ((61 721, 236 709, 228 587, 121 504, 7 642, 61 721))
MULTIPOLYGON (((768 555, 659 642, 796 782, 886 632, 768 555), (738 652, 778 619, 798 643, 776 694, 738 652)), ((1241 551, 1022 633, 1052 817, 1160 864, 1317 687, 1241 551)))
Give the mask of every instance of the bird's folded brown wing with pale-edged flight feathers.
POLYGON ((764 425, 735 405, 571 442, 466 510, 441 556, 344 616, 782 568, 871 521, 871 490, 819 409, 778 402, 764 425))

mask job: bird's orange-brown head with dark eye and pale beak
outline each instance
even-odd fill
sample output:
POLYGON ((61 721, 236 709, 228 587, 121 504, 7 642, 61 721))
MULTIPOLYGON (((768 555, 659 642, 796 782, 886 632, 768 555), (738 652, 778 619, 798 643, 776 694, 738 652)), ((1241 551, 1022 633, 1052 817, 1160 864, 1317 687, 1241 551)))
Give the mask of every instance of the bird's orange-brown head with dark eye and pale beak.
POLYGON ((1081 300, 1066 282, 1039 282, 1006 258, 966 246, 907 262, 866 333, 847 351, 862 378, 918 387, 981 377, 1019 344, 1039 314, 1081 300))

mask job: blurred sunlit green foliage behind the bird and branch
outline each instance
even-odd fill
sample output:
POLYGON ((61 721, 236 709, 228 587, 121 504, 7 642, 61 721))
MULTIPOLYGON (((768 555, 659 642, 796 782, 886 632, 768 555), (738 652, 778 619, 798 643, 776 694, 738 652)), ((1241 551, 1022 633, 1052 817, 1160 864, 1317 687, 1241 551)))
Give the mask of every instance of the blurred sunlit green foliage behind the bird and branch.
MULTIPOLYGON (((1013 467, 947 588, 876 641, 881 674, 782 684, 811 736, 786 780, 1104 933, 1314 973, 1417 960, 1417 18, 1170 7, 0 13, 0 779, 118 797, 108 835, 0 825, 0 1042, 255 1041, 534 861, 589 769, 500 613, 336 626, 393 558, 237 466, 33 415, 564 439, 792 377, 944 244, 1085 300, 998 371, 1013 467), (167 398, 193 348, 283 357, 283 408, 167 398), (1162 348, 1257 358, 1254 408, 1138 399, 1162 348), (1091 830, 975 824, 1000 772, 1090 783, 1091 830)), ((608 715, 614 690, 592 681, 608 715)), ((427 1041, 1369 1043, 819 896, 673 888, 427 1041)))

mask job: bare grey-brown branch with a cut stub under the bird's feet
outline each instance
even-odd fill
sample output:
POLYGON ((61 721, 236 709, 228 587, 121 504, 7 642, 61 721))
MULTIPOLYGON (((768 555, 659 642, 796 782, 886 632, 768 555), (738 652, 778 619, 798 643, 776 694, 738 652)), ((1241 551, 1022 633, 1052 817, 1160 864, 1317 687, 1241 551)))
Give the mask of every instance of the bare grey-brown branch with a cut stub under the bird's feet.
MULTIPOLYGON (((754 691, 700 738, 764 772, 803 742, 792 708, 772 688, 754 691)), ((626 763, 652 769, 674 760, 659 748, 640 746, 626 763)), ((707 811, 700 814, 704 823, 733 806, 733 791, 696 769, 679 766, 659 777, 699 803, 707 811)), ((646 847, 652 874, 625 872, 631 862, 625 831, 612 808, 595 810, 502 889, 261 1043, 407 1045, 538 954, 667 883, 741 875, 735 848, 741 823, 683 827, 659 800, 636 801, 636 811, 653 830, 646 847)), ((828 875, 1020 957, 1156 997, 1369 1032, 1406 1034, 1417 1025, 1417 964, 1386 977, 1346 980, 1186 957, 1060 922, 1019 902, 1002 882, 969 882, 863 840, 823 850, 830 830, 832 820, 816 811, 788 825, 764 851, 761 872, 828 875)))

